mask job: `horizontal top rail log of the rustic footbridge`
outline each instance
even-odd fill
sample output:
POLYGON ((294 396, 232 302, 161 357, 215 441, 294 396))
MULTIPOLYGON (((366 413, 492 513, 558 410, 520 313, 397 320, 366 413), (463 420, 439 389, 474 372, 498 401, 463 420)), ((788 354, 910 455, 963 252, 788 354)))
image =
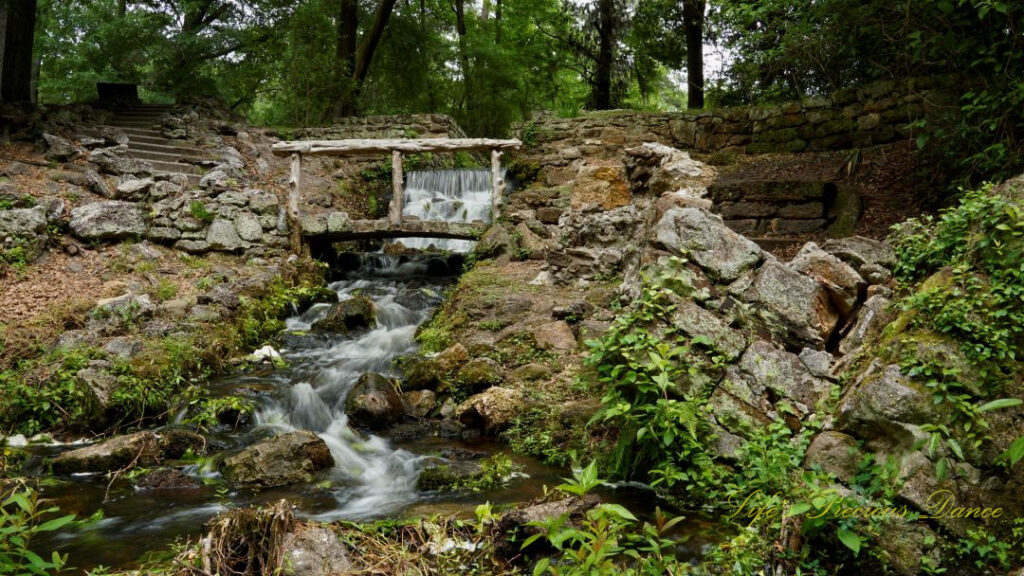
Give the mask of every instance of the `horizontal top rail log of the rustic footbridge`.
POLYGON ((387 154, 389 152, 458 152, 480 150, 519 150, 522 142, 516 139, 494 138, 365 138, 346 140, 293 140, 270 147, 276 156, 293 153, 323 156, 351 156, 358 154, 387 154))

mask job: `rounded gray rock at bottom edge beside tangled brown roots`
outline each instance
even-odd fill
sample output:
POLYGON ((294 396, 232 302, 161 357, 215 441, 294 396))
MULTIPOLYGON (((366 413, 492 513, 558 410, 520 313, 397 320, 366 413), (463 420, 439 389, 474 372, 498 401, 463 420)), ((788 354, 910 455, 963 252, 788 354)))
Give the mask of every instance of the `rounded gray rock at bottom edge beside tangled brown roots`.
POLYGON ((330 526, 305 524, 285 537, 281 548, 284 576, 348 574, 348 548, 330 526))

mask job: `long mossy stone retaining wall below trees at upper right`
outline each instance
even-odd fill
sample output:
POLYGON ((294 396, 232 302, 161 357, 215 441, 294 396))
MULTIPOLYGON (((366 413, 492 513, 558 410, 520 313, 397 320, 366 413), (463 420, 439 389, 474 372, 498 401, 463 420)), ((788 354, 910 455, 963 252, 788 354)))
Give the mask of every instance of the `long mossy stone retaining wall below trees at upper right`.
POLYGON ((745 154, 834 151, 889 143, 913 135, 915 120, 955 101, 945 82, 915 78, 883 81, 774 107, 737 107, 699 113, 608 111, 578 118, 538 118, 514 131, 529 157, 584 155, 657 141, 680 150, 745 154), (586 150, 584 150, 586 149, 586 150))

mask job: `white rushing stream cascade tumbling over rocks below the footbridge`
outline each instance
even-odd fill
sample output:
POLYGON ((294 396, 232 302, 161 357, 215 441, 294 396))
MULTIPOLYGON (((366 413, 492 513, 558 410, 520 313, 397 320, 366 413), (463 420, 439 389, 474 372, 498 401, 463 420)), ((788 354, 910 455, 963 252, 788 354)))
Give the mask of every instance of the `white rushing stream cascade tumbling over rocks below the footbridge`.
MULTIPOLYGON (((416 327, 440 300, 441 287, 417 273, 424 264, 373 254, 354 277, 330 285, 339 301, 361 294, 374 301, 377 325, 353 337, 285 351, 293 363, 276 393, 256 414, 260 427, 275 433, 306 429, 327 443, 335 467, 330 480, 337 506, 319 520, 381 518, 417 501, 416 480, 423 456, 393 448, 380 437, 348 425, 345 400, 366 372, 395 375, 392 361, 416 349, 416 327), (419 268, 418 268, 419 266, 419 268)), ((289 318, 290 330, 308 330, 330 304, 314 304, 289 318)))

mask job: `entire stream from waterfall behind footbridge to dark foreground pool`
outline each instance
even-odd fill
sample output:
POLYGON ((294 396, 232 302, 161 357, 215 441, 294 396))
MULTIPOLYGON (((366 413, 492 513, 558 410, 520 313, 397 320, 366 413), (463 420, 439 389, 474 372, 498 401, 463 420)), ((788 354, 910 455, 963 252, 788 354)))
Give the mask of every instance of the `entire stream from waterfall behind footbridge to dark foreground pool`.
MULTIPOLYGON (((489 173, 483 170, 411 172, 406 213, 423 219, 486 220, 490 210, 489 173)), ((409 239, 408 247, 433 244, 447 250, 466 250, 468 241, 409 239)), ((356 431, 348 425, 345 399, 366 372, 398 376, 394 360, 416 352, 417 327, 440 303, 454 276, 438 277, 437 258, 423 255, 362 254, 356 270, 330 284, 339 300, 361 294, 373 300, 377 324, 355 335, 308 331, 331 304, 296 311, 287 320, 282 354, 289 366, 264 368, 225 377, 210 384, 213 394, 245 395, 259 406, 252 425, 241 430, 209 435, 211 451, 229 453, 269 436, 293 429, 311 430, 330 447, 334 467, 312 482, 251 492, 227 491, 215 465, 191 464, 189 476, 202 481, 190 490, 139 490, 120 480, 108 487, 99 475, 54 479, 45 475, 44 460, 68 447, 35 447, 27 471, 41 477, 43 493, 61 510, 79 518, 101 510, 101 518, 77 531, 41 536, 40 549, 69 552, 72 565, 90 569, 103 565, 128 568, 153 550, 165 549, 175 539, 195 538, 203 524, 229 506, 246 506, 287 498, 304 518, 332 521, 407 518, 432 513, 470 515, 476 504, 521 502, 540 496, 544 486, 555 486, 566 470, 513 456, 518 474, 507 486, 490 492, 423 492, 416 481, 427 458, 444 450, 506 451, 487 441, 413 435, 406 440, 356 431), (431 259, 432 258, 432 259, 431 259), (433 264, 433 265, 431 265, 433 264), (34 468, 34 470, 33 470, 34 468)), ((440 266, 443 268, 443 266, 440 266)), ((340 271, 336 271, 340 272, 340 271)), ((510 454, 511 455, 511 454, 510 454)), ((636 504, 649 498, 641 492, 636 504)), ((620 499, 630 500, 622 494, 620 499)), ((639 505, 650 507, 650 502, 639 505)), ((46 554, 48 556, 48 554, 46 554)))

